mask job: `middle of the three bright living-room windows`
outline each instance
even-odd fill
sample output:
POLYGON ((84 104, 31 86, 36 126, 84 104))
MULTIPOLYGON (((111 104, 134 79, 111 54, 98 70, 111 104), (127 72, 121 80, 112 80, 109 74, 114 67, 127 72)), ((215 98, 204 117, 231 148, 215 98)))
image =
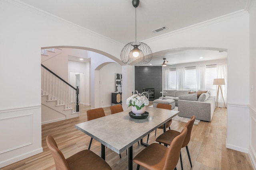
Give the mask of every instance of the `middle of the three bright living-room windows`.
POLYGON ((185 69, 185 90, 196 90, 196 67, 185 69))

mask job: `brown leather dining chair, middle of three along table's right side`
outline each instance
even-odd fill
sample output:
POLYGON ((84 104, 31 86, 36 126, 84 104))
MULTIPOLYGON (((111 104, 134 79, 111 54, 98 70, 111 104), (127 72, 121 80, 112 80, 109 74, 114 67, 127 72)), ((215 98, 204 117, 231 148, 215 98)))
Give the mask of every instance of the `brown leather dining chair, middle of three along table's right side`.
MULTIPOLYGON (((182 148, 186 147, 187 154, 188 154, 188 159, 189 159, 191 168, 192 168, 192 162, 191 162, 190 154, 189 154, 189 151, 188 151, 188 143, 190 141, 191 131, 192 131, 192 127, 194 125, 195 119, 196 119, 196 117, 195 117, 195 115, 193 115, 191 117, 190 121, 188 121, 188 123, 186 123, 185 127, 188 128, 188 133, 187 133, 186 138, 185 138, 185 140, 182 144, 182 148)), ((173 139, 178 135, 180 135, 180 132, 174 131, 174 130, 168 130, 165 133, 163 133, 162 135, 160 135, 158 138, 156 138, 156 142, 159 142, 160 144, 163 143, 165 145, 171 145, 173 139)), ((181 152, 180 152, 180 164, 181 164, 181 169, 183 170, 181 152)))

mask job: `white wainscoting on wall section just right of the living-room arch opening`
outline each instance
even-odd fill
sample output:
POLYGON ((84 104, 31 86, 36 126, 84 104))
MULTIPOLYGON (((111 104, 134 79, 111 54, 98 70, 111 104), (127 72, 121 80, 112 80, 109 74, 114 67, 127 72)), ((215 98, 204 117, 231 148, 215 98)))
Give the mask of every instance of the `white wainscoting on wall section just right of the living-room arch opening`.
POLYGON ((226 147, 248 153, 250 126, 249 107, 246 104, 228 104, 226 147))

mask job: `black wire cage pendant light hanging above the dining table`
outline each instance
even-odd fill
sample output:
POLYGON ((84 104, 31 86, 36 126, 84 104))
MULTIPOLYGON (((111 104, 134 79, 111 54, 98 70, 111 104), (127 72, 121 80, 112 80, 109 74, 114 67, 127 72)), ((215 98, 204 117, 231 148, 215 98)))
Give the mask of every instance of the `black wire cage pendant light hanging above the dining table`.
POLYGON ((136 8, 139 6, 140 0, 132 0, 132 5, 135 8, 135 42, 128 43, 121 51, 121 60, 124 64, 140 65, 147 64, 152 59, 152 51, 148 45, 142 42, 137 42, 136 30, 136 8))

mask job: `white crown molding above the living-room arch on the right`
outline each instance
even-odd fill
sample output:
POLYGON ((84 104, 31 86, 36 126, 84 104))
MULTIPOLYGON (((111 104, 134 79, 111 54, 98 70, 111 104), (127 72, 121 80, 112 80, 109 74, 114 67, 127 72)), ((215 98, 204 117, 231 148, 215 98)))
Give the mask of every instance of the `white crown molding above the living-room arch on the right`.
POLYGON ((217 17, 217 18, 213 18, 211 20, 206 20, 206 21, 203 21, 203 22, 200 22, 200 23, 196 23, 196 24, 190 25, 188 27, 184 27, 184 28, 181 28, 181 29, 171 31, 169 33, 165 33, 165 34, 162 34, 162 35, 159 35, 159 36, 156 36, 156 37, 152 37, 150 39, 146 39, 144 41, 145 42, 156 41, 158 39, 162 39, 162 38, 165 38, 165 37, 170 37, 170 36, 175 35, 177 33, 182 33, 182 32, 190 31, 190 30, 197 29, 197 28, 200 28, 200 27, 205 27, 207 25, 212 25, 214 23, 219 23, 219 22, 222 22, 222 21, 225 21, 225 20, 229 20, 231 18, 236 18, 238 16, 244 16, 246 14, 248 14, 248 12, 246 10, 238 10, 238 11, 232 12, 230 14, 226 14, 226 15, 223 15, 223 16, 220 16, 220 17, 217 17))

